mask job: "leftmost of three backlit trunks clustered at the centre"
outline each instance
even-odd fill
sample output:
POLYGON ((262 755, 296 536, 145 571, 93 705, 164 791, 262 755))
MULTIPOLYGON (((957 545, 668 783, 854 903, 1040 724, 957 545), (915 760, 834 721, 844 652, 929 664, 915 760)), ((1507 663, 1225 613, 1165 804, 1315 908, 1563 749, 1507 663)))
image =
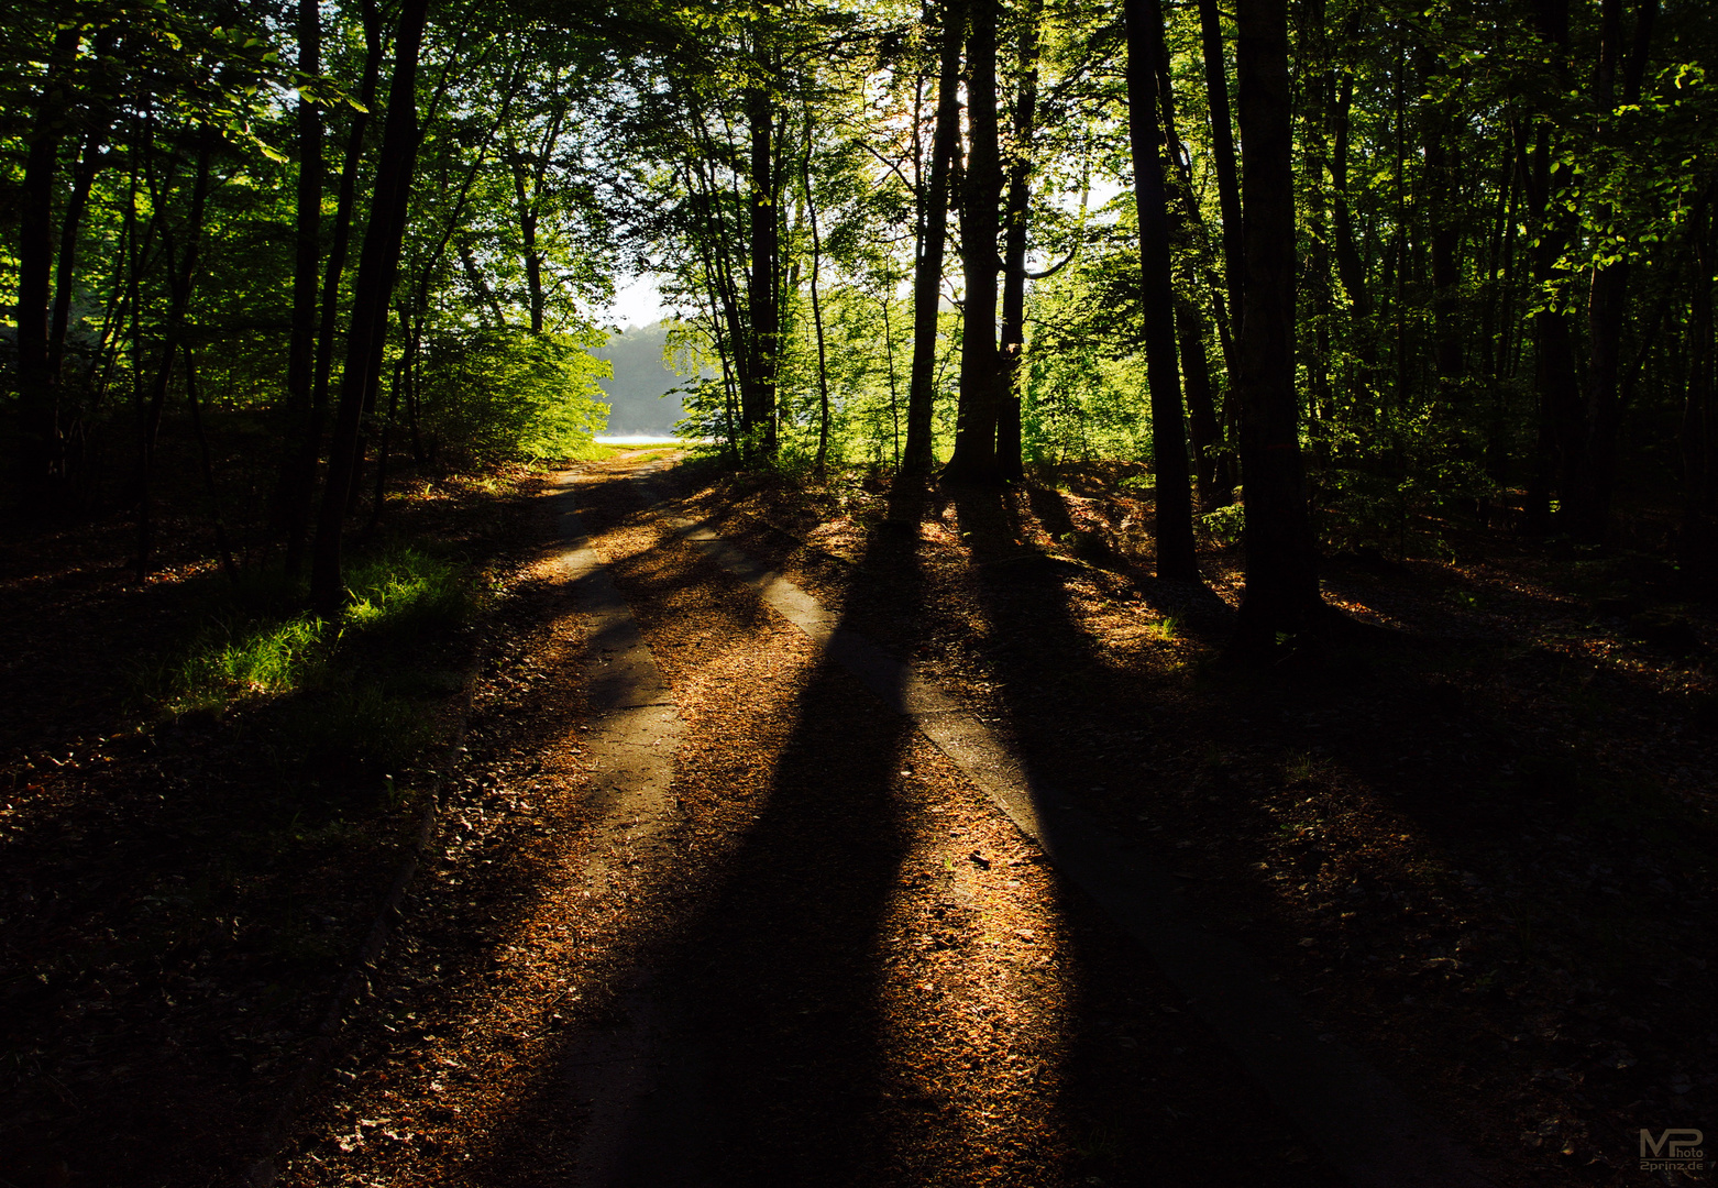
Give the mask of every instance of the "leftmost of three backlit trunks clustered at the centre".
POLYGON ((960 43, 966 2, 945 0, 941 64, 936 83, 936 131, 931 134, 931 181, 924 205, 924 249, 912 275, 912 373, 907 380, 907 445, 902 475, 931 473, 936 406, 936 315, 943 299, 943 253, 948 242, 948 174, 960 134, 960 43))

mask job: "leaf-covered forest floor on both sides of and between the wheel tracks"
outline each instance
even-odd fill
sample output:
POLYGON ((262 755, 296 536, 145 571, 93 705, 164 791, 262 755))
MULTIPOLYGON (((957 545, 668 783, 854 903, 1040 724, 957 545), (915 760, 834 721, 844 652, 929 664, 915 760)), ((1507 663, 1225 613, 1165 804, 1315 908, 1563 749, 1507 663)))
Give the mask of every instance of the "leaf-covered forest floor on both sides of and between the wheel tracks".
POLYGON ((861 476, 679 468, 653 507, 639 466, 574 499, 682 724, 649 829, 593 770, 601 641, 534 478, 414 509, 497 595, 431 665, 478 674, 436 708, 464 750, 388 801, 333 763, 289 817, 302 774, 239 729, 263 707, 120 736, 101 665, 196 603, 43 550, 5 574, 34 691, 0 722, 0 1183, 235 1181, 430 787, 278 1183, 1340 1183, 1144 949, 667 512, 1156 854, 1498 1185, 1666 1183, 1639 1131, 1718 1123, 1718 633, 1661 566, 1453 531, 1455 560, 1338 559, 1376 638, 1259 671, 1223 655, 1234 550, 1204 543, 1215 593, 1148 578, 1115 475, 926 493, 904 531, 861 476))

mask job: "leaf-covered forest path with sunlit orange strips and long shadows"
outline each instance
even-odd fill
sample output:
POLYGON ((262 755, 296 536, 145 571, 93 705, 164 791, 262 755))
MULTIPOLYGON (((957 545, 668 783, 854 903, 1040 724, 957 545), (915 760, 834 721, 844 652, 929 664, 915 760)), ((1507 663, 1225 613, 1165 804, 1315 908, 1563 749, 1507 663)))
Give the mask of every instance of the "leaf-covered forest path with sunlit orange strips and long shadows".
POLYGON ((589 466, 555 509, 545 695, 474 731, 534 856, 424 887, 411 1025, 297 1181, 1462 1183, 1161 872, 660 481, 589 466))

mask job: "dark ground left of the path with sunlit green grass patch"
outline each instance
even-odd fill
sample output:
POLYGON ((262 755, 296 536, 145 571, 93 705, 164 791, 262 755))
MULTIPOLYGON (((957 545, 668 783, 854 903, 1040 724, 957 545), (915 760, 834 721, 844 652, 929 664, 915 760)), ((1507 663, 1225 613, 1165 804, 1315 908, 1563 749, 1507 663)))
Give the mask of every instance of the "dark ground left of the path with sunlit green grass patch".
POLYGON ((459 762, 538 483, 395 483, 333 619, 256 569, 230 583, 189 516, 143 586, 117 521, 10 542, 0 1179, 194 1178, 259 1140, 459 762))

